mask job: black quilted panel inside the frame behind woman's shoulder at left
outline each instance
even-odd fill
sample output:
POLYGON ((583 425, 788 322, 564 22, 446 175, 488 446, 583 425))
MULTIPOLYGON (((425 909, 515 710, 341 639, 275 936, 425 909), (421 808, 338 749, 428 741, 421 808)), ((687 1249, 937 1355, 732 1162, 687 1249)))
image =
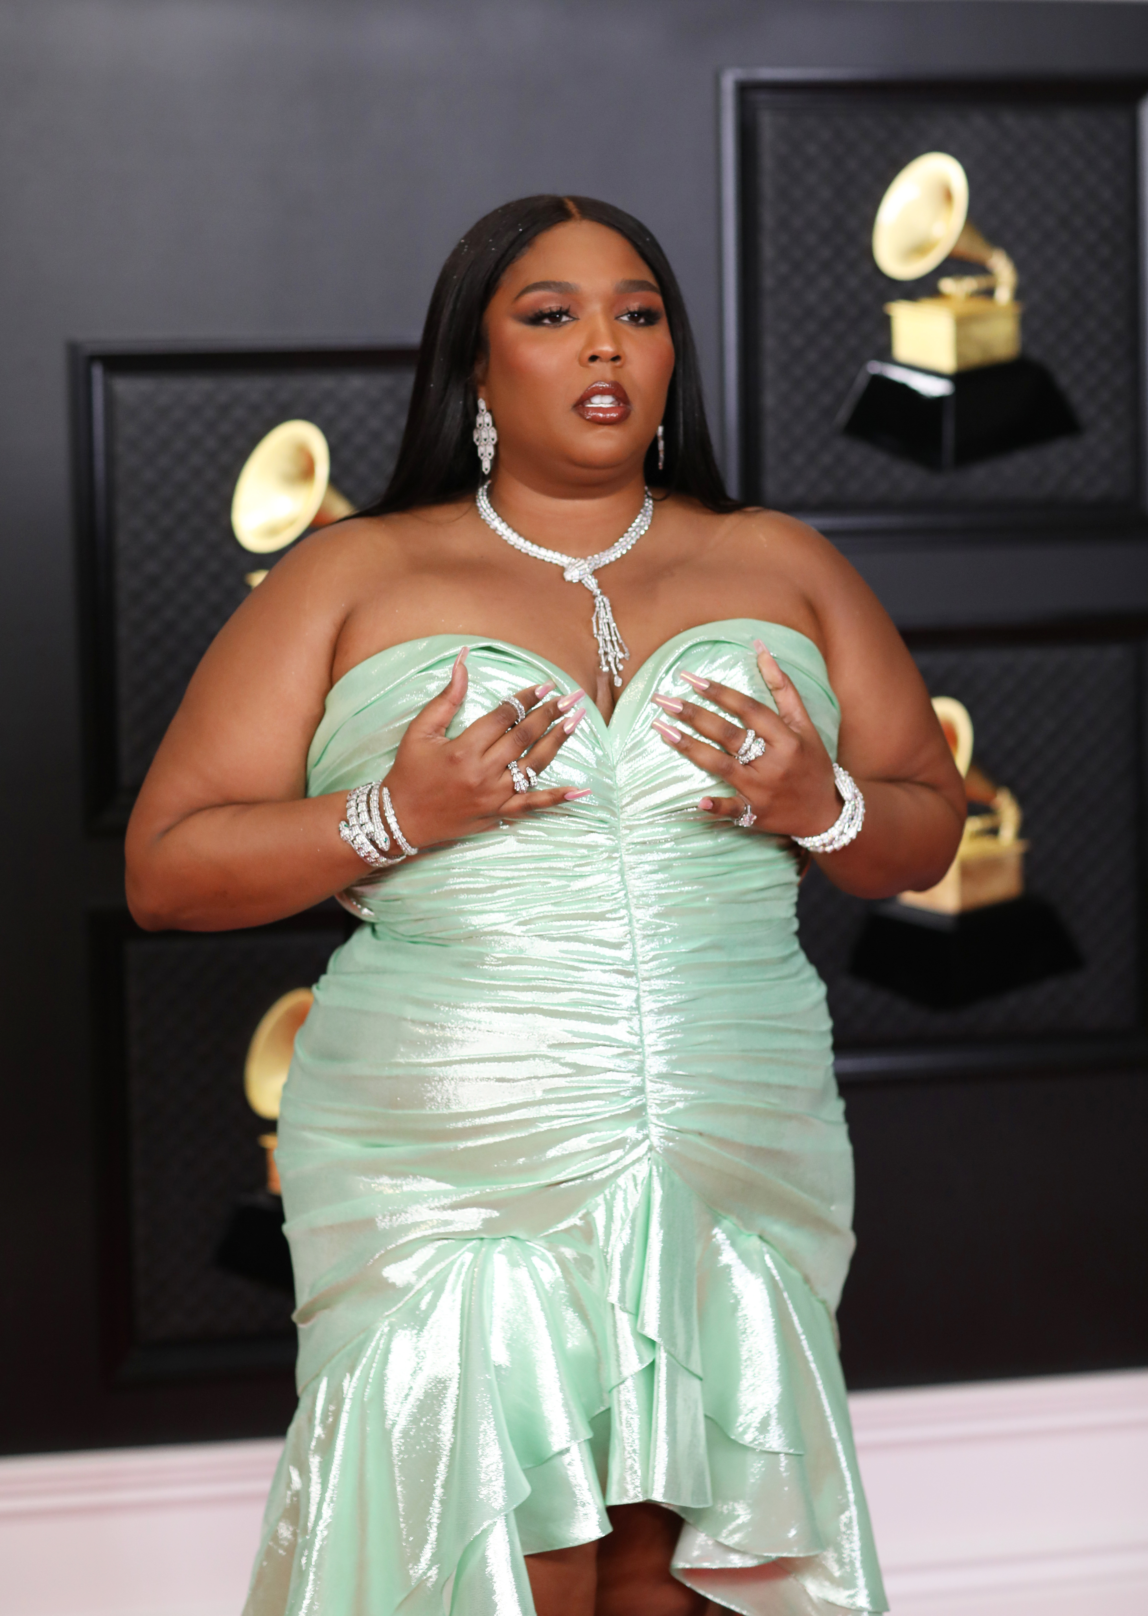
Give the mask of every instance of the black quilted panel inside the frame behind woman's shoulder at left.
POLYGON ((331 368, 108 377, 118 784, 136 790, 200 656, 275 562, 231 533, 231 493, 264 433, 304 417, 327 433, 352 504, 386 483, 412 370, 331 368))

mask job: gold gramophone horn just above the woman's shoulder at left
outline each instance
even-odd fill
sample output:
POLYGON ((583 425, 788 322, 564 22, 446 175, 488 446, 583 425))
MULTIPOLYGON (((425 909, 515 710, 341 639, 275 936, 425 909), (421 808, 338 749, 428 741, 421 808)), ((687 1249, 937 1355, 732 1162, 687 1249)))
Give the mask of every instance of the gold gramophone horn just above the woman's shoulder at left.
POLYGON ((330 475, 327 438, 314 422, 285 420, 268 431, 247 456, 231 498, 231 527, 243 548, 268 554, 309 527, 351 516, 354 506, 330 475))

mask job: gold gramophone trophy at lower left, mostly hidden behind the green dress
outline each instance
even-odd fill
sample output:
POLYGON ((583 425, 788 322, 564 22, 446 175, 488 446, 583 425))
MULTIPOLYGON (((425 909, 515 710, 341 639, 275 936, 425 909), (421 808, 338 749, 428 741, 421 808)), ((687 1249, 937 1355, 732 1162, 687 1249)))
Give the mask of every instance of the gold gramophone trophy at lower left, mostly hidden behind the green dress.
MULTIPOLYGON (((310 987, 293 987, 283 994, 262 1016, 247 1046, 243 1091, 254 1113, 265 1122, 278 1120, 294 1039, 307 1020, 314 997, 310 987)), ((291 1252, 283 1235, 283 1199, 275 1165, 278 1136, 262 1133, 259 1144, 267 1159, 267 1186, 239 1197, 215 1260, 231 1273, 293 1290, 291 1252)))

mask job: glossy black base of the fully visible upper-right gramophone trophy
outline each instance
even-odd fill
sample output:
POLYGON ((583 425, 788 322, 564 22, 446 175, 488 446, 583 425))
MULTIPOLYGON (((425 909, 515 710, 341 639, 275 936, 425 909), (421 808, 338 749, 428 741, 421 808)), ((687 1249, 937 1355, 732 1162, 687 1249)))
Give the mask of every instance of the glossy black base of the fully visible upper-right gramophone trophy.
POLYGON ((1080 423, 1053 375, 1035 359, 952 377, 870 359, 838 417, 838 430, 931 472, 951 472, 1072 436, 1080 423))

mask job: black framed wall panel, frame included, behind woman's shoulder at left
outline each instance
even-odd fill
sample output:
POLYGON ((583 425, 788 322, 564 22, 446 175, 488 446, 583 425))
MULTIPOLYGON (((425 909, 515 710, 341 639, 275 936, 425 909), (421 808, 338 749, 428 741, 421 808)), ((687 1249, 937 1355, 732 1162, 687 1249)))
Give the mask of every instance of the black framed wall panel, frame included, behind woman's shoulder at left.
POLYGON ((417 351, 73 346, 87 811, 123 829, 200 656, 247 595, 236 477, 281 420, 314 420, 354 506, 398 456, 417 351))

